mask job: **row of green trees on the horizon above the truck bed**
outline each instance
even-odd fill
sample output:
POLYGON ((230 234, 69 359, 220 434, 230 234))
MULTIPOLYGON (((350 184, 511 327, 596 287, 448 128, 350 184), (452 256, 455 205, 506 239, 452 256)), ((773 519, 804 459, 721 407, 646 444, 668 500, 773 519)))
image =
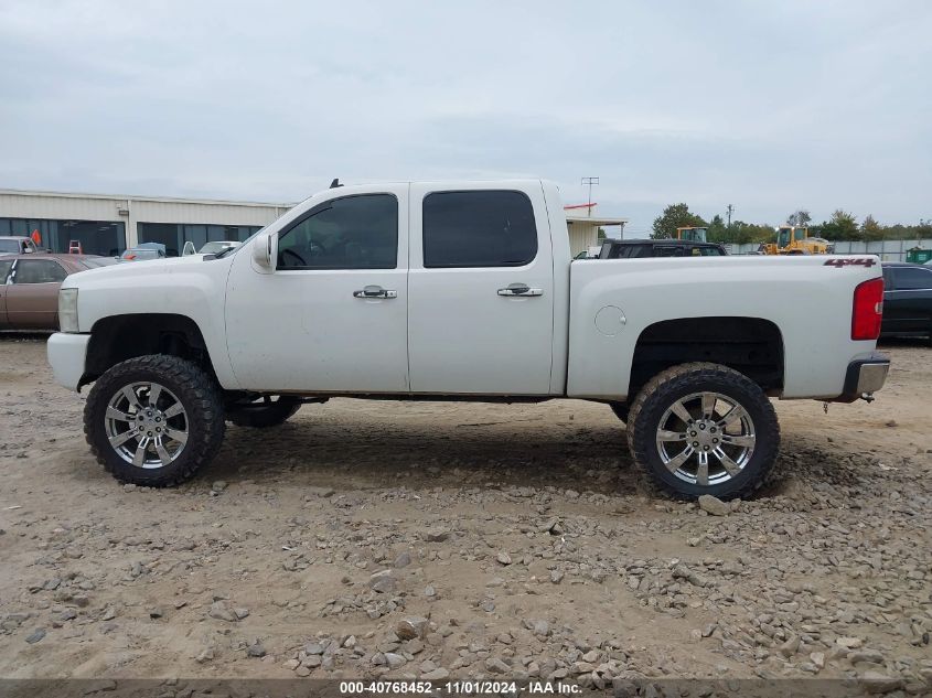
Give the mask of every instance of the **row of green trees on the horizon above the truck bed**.
MULTIPOLYGON (((932 238, 932 221, 920 221, 918 225, 882 225, 872 215, 867 215, 858 223, 857 218, 838 208, 828 221, 814 224, 810 212, 800 208, 786 216, 783 225, 807 226, 810 236, 824 237, 827 240, 900 240, 932 238)), ((718 214, 706 222, 698 214, 689 211, 686 204, 671 204, 654 219, 652 238, 675 238, 676 228, 705 227, 708 228, 707 239, 710 243, 770 243, 776 238, 775 226, 769 223, 744 223, 732 221, 725 223, 718 214)))

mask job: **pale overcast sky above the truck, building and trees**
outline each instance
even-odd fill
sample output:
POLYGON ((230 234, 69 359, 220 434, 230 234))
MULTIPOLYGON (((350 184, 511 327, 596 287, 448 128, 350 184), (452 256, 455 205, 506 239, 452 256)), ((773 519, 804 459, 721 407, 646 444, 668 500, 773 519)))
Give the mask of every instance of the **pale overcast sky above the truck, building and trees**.
MULTIPOLYGON (((0 0, 0 189, 296 202, 540 176, 932 218, 932 2, 0 0)), ((0 214, 2 215, 2 214, 0 214)))

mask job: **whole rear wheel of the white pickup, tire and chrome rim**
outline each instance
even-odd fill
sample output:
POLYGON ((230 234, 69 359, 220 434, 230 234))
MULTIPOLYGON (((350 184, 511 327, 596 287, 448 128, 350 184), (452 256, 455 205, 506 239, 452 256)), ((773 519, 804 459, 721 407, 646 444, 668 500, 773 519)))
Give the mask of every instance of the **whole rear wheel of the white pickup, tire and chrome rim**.
POLYGON ((683 364, 654 376, 632 404, 628 427, 638 464, 682 498, 751 494, 780 445, 780 426, 767 395, 719 364, 683 364))

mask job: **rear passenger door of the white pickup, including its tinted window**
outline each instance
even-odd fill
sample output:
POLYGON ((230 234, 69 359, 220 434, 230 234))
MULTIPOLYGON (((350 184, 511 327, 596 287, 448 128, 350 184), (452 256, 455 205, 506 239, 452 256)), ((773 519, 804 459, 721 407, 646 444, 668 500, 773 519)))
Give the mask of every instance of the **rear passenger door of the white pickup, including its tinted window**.
POLYGON ((519 189, 411 184, 411 391, 549 393, 550 229, 543 187, 519 189))

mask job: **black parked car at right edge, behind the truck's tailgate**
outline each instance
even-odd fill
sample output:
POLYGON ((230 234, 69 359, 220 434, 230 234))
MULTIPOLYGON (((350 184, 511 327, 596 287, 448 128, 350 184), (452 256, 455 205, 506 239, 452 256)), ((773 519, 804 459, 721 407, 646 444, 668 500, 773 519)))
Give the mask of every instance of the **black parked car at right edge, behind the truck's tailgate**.
POLYGON ((883 262, 880 335, 928 337, 932 344, 932 267, 883 262))

